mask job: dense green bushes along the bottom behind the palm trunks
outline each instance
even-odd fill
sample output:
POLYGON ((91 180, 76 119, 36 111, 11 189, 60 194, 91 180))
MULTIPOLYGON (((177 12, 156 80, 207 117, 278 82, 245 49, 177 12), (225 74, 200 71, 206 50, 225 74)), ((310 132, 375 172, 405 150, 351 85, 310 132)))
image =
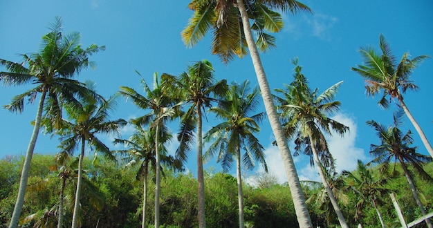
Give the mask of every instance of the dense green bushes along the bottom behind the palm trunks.
MULTIPOLYGON (((19 186, 19 170, 24 158, 3 158, 0 160, 0 173, 2 186, 0 188, 0 227, 8 225, 17 196, 19 186), (5 180, 5 181, 3 181, 5 180), (8 184, 3 184, 8 182, 8 184)), ((32 227, 40 220, 57 224, 55 207, 58 206, 59 192, 62 182, 57 171, 51 171, 50 165, 54 163, 55 155, 35 154, 29 176, 29 188, 26 193, 23 216, 34 215, 33 219, 23 227, 32 227), (44 188, 36 188, 44 182, 44 188), (50 211, 54 212, 49 213, 50 211), (50 216, 49 218, 47 216, 50 216)), ((102 158, 98 164, 91 158, 84 159, 86 167, 86 184, 83 185, 81 222, 82 227, 140 227, 142 221, 142 182, 134 181, 140 166, 125 169, 126 162, 119 164, 102 158)), ((154 169, 153 169, 154 170, 154 169)), ((150 171, 153 173, 153 170, 150 171)), ((376 179, 380 173, 376 168, 368 169, 376 179)), ((399 166, 396 170, 403 172, 399 166)), ((425 171, 433 174, 433 164, 427 164, 425 171)), ((353 174, 358 176, 358 171, 353 174)), ((164 170, 165 178, 161 179, 160 192, 160 221, 161 227, 197 227, 197 181, 191 173, 174 173, 164 170)), ((341 175, 339 175, 341 176, 341 175)), ((348 178, 343 178, 349 183, 348 178)), ((65 188, 65 216, 64 224, 71 224, 73 213, 73 195, 75 193, 76 178, 66 182, 65 188), (75 180, 74 180, 75 179, 75 180)), ((423 193, 423 200, 427 208, 433 207, 433 189, 429 182, 416 179, 418 191, 423 193)), ((149 182, 149 189, 154 189, 154 180, 149 182)), ((413 200, 405 176, 391 178, 383 185, 396 193, 402 211, 405 211, 405 220, 412 221, 421 212, 413 200), (403 203, 404 202, 404 203, 403 203)), ((310 198, 317 191, 322 191, 322 184, 304 183, 303 189, 306 198, 310 198)), ((236 178, 226 173, 205 172, 206 193, 206 224, 208 227, 237 227, 238 226, 238 200, 236 178)), ((362 224, 362 227, 378 227, 380 222, 374 207, 366 205, 362 212, 356 208, 360 200, 353 191, 346 192, 347 205, 340 205, 342 213, 348 224, 362 224), (356 214, 362 213, 356 220, 356 214)), ((290 189, 286 184, 268 184, 266 187, 253 187, 243 183, 245 223, 254 227, 296 227, 296 214, 291 199, 290 189)), ((149 199, 154 198, 154 191, 149 191, 149 199)), ((376 196, 378 201, 390 202, 389 195, 376 196)), ((314 225, 321 227, 335 227, 338 220, 332 216, 329 224, 326 220, 329 209, 320 207, 315 201, 307 204, 314 225)), ((390 203, 378 203, 387 227, 398 226, 394 206, 390 203)), ((147 207, 147 224, 153 223, 154 205, 147 207)), ((65 225, 64 227, 68 227, 65 225)), ((422 227, 422 226, 421 226, 422 227)))

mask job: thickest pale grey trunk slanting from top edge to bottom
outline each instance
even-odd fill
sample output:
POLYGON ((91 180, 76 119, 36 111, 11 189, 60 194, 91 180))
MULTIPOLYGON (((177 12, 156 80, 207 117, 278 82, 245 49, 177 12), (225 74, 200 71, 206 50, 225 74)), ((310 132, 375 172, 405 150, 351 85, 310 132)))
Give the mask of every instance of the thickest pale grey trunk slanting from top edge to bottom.
POLYGON ((275 105, 273 102, 273 95, 270 93, 268 79, 266 79, 266 74, 263 65, 261 64, 259 51, 257 50, 254 38, 252 37, 250 21, 248 19, 246 8, 243 5, 243 0, 237 0, 237 5, 242 18, 243 32, 245 33, 248 50, 250 50, 252 64, 257 75, 257 80, 259 82, 261 97, 263 97, 270 126, 275 135, 275 140, 277 141, 279 153, 282 156, 282 160, 284 163, 284 169, 286 170, 288 186, 291 189, 297 222, 299 223, 300 227, 313 227, 310 214, 308 213, 308 209, 306 207, 304 193, 302 193, 300 180, 297 176, 295 163, 293 162, 291 151, 288 148, 281 123, 279 122, 277 110, 275 109, 275 105))

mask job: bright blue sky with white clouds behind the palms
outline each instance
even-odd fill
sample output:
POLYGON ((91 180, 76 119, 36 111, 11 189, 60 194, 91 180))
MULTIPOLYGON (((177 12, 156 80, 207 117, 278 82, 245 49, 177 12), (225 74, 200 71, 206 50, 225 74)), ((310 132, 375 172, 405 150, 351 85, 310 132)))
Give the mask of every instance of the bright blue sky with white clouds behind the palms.
MULTIPOLYGON (((392 111, 377 106, 378 97, 365 95, 362 78, 351 71, 352 66, 362 64, 360 47, 378 48, 379 34, 385 35, 397 59, 409 51, 413 57, 433 55, 432 1, 302 1, 314 11, 313 15, 284 15, 284 30, 275 34, 277 47, 261 55, 271 88, 282 88, 293 77, 290 60, 299 57, 302 72, 312 88, 320 91, 344 81, 335 99, 342 102, 341 111, 335 116, 350 127, 344 138, 329 137, 331 153, 337 159, 338 171, 352 170, 356 160, 369 162, 370 144, 378 144, 373 129, 365 124, 376 120, 391 124, 392 111), (429 26, 430 25, 430 26, 429 26)), ((84 82, 91 79, 97 90, 105 97, 118 91, 119 86, 129 86, 141 91, 138 70, 151 84, 154 72, 178 75, 194 61, 209 59, 218 79, 228 82, 243 82, 249 79, 257 85, 249 56, 235 59, 225 65, 218 57, 210 54, 210 36, 194 48, 186 48, 180 32, 192 15, 188 10, 189 1, 1 1, 0 2, 0 58, 20 61, 17 54, 34 53, 39 50, 42 35, 48 32, 56 16, 62 17, 64 32, 80 32, 82 45, 107 46, 107 50, 93 55, 98 64, 95 70, 83 70, 76 77, 84 82)), ((4 70, 3 68, 0 68, 4 70)), ((420 87, 418 92, 405 95, 407 106, 423 127, 427 138, 433 138, 432 102, 433 59, 427 59, 412 75, 420 87)), ((1 87, 0 104, 8 104, 13 95, 23 93, 30 87, 1 87)), ((130 102, 120 99, 113 118, 142 115, 130 102)), ((393 106, 395 107, 395 105, 393 106)), ((264 107, 261 107, 264 111, 264 107)), ((24 113, 19 115, 0 109, 3 131, 0 136, 0 158, 6 155, 24 155, 30 140, 36 105, 26 104, 24 113)), ((204 129, 210 129, 216 122, 210 118, 204 129)), ((172 131, 176 132, 176 126, 172 131)), ((404 129, 412 129, 418 152, 427 154, 421 140, 405 119, 404 129)), ((261 124, 257 135, 266 147, 266 161, 270 171, 284 181, 284 168, 277 148, 271 146, 273 135, 268 121, 261 124)), ((131 129, 122 130, 122 137, 128 137, 131 129)), ((112 138, 112 137, 111 137, 112 138)), ((105 137, 109 146, 110 137, 105 137)), ((57 138, 40 134, 35 153, 55 153, 57 138)), ((174 142, 170 147, 174 148, 174 142)), ((111 146, 116 149, 114 146, 111 146)), ((194 151, 190 153, 187 169, 196 173, 194 151)), ((318 180, 317 171, 311 169, 308 158, 295 158, 301 180, 318 180)), ((214 161, 205 168, 220 169, 214 161)), ((259 167, 259 165, 257 165, 259 167)), ((248 171, 246 176, 261 171, 248 171)), ((232 173, 234 170, 232 171, 232 173)))

